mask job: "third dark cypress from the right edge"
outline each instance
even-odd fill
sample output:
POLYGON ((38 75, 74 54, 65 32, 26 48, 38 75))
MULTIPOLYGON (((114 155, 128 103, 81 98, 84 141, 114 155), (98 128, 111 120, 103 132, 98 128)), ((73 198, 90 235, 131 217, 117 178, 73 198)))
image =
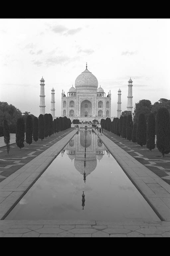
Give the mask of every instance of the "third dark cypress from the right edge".
POLYGON ((141 147, 146 145, 146 119, 145 115, 141 113, 138 118, 138 125, 137 125, 137 144, 141 147))

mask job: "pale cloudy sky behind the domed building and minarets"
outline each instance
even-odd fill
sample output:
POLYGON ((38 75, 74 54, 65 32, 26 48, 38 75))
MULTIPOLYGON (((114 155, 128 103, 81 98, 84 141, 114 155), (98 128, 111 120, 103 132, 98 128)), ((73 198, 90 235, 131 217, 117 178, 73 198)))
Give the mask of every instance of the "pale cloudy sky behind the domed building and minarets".
POLYGON ((86 68, 106 93, 117 116, 118 90, 127 110, 128 80, 133 109, 141 99, 170 99, 170 19, 0 19, 0 101, 40 114, 40 79, 45 80, 45 112, 55 89, 55 115, 61 92, 75 85, 86 68))

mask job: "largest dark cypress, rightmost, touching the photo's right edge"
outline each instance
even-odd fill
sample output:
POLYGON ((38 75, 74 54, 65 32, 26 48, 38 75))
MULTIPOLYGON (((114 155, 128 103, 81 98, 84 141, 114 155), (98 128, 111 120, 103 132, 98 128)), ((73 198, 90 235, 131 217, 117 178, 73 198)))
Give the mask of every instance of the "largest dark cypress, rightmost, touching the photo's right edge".
POLYGON ((167 108, 160 108, 156 115, 156 146, 162 157, 170 153, 170 116, 167 108))

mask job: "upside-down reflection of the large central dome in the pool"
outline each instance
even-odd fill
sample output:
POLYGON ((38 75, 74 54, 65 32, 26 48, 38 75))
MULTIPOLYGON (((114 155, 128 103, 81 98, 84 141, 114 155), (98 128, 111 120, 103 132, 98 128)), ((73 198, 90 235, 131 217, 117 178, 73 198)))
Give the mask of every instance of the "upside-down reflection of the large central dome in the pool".
POLYGON ((92 157, 90 159, 86 158, 86 167, 84 168, 84 158, 75 158, 74 159, 74 166, 77 171, 79 171, 81 174, 86 173, 86 176, 90 174, 92 171, 95 170, 97 166, 97 159, 96 156, 92 157))

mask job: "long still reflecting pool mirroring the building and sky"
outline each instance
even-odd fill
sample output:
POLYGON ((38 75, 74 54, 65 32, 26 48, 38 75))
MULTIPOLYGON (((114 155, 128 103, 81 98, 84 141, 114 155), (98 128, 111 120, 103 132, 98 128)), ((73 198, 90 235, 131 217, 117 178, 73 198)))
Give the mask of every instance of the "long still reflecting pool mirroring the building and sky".
POLYGON ((77 132, 6 219, 160 220, 90 129, 77 132))

